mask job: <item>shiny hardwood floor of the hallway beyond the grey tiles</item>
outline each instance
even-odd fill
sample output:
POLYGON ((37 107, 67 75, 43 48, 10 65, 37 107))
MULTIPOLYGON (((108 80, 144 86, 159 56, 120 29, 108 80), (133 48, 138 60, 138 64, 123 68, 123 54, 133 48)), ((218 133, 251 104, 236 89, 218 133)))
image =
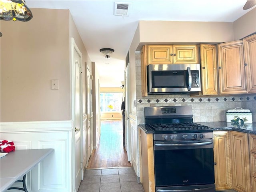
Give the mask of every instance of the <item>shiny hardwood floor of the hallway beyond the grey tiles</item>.
POLYGON ((92 151, 86 169, 130 167, 122 134, 122 120, 102 121, 100 142, 92 151))

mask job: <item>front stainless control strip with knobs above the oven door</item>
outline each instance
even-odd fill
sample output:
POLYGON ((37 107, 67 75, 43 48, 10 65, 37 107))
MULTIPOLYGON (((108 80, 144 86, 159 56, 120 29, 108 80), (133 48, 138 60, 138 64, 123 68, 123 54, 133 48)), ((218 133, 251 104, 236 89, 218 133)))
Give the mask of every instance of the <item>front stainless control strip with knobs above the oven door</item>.
POLYGON ((212 139, 212 132, 204 133, 177 133, 177 134, 154 134, 155 141, 161 140, 200 140, 200 139, 212 139))

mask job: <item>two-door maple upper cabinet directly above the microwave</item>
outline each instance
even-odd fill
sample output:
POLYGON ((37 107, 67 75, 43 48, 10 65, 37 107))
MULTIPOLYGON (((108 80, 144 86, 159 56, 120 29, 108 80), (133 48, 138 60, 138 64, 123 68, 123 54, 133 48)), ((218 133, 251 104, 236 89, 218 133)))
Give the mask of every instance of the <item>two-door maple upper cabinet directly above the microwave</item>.
POLYGON ((148 45, 148 64, 198 63, 198 45, 148 45))

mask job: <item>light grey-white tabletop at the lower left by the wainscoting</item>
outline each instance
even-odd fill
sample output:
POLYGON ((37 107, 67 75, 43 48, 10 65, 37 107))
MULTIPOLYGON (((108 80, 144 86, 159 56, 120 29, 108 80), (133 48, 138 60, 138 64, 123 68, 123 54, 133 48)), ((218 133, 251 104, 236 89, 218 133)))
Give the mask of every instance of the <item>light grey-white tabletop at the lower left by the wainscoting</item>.
POLYGON ((51 152, 53 149, 16 150, 0 158, 0 191, 7 190, 51 152))

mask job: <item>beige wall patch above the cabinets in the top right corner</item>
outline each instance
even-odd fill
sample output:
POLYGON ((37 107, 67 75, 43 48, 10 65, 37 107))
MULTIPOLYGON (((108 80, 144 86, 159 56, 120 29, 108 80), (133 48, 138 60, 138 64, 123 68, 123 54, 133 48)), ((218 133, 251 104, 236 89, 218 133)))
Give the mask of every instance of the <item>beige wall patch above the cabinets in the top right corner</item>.
POLYGON ((256 8, 234 21, 234 40, 239 40, 256 32, 256 8))

